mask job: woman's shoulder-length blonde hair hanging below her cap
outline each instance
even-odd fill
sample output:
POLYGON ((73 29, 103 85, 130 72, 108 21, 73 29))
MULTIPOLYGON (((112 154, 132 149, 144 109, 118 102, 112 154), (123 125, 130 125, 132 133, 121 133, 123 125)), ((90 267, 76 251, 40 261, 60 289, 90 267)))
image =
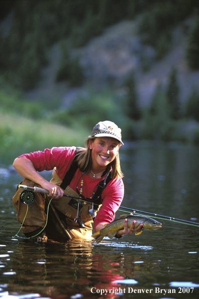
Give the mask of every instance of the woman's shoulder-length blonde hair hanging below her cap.
MULTIPOLYGON (((94 139, 96 139, 97 137, 88 137, 85 140, 85 148, 80 148, 78 150, 77 148, 77 156, 76 156, 76 160, 78 163, 78 167, 79 170, 81 172, 89 172, 91 169, 91 150, 89 148, 89 141, 92 140, 94 141, 94 139)), ((105 172, 107 172, 109 167, 112 167, 112 171, 111 171, 111 177, 112 179, 118 179, 119 177, 123 178, 123 173, 121 171, 121 167, 120 167, 120 157, 119 157, 119 152, 116 155, 116 158, 107 166, 107 169, 105 170, 105 172)), ((103 173, 103 175, 105 174, 105 172, 103 173)))

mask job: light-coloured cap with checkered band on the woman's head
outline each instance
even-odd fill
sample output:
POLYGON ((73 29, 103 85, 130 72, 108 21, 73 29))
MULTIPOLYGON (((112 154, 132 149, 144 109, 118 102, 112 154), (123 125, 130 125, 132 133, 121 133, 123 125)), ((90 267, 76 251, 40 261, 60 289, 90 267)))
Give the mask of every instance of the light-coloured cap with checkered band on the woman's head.
POLYGON ((91 136, 88 137, 113 137, 122 142, 121 129, 112 121, 99 121, 92 129, 91 136))

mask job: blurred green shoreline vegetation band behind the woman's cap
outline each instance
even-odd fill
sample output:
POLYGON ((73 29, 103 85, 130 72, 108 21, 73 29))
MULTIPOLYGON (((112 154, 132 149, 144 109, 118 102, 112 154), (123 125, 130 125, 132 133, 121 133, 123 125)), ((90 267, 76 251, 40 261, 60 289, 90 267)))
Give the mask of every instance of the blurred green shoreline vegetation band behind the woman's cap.
POLYGON ((116 98, 107 89, 97 94, 89 93, 86 99, 82 101, 79 98, 67 109, 50 107, 47 110, 41 102, 22 100, 22 95, 17 92, 1 90, 0 165, 12 164, 19 155, 43 151, 46 147, 84 146, 84 137, 102 119, 116 122, 122 128, 124 140, 199 144, 199 122, 190 112, 199 111, 194 106, 199 103, 198 98, 193 101, 196 96, 192 96, 186 105, 185 111, 189 111, 190 117, 181 112, 175 119, 171 113, 172 106, 168 106, 166 94, 161 89, 149 107, 141 109, 134 103, 137 114, 133 116, 127 114, 127 108, 133 105, 127 97, 116 98))

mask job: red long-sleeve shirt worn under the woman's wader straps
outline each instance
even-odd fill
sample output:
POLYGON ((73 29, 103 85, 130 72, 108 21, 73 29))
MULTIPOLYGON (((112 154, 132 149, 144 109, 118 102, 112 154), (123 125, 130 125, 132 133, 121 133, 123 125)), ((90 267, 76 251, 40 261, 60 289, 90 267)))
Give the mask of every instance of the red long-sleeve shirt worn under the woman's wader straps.
MULTIPOLYGON (((61 180, 63 180, 73 161, 75 151, 75 146, 53 147, 50 150, 46 148, 44 152, 38 151, 30 154, 24 154, 20 157, 31 160, 35 169, 39 172, 44 170, 53 170, 54 167, 56 167, 56 174, 61 180)), ((74 191, 76 191, 77 185, 78 190, 80 188, 81 176, 82 172, 77 169, 69 185, 74 191)), ((91 197, 99 181, 100 179, 93 179, 84 174, 82 195, 88 198, 91 197)), ((104 189, 101 197, 102 206, 94 219, 94 230, 99 223, 110 223, 114 220, 115 213, 120 207, 124 197, 124 184, 122 178, 111 180, 104 189)))

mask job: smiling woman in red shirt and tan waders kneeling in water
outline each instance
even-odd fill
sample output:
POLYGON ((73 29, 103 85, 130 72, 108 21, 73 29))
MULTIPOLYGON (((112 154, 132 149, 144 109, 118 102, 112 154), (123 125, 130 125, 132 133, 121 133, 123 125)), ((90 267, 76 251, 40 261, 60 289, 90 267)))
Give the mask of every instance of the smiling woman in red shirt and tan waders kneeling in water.
MULTIPOLYGON (((44 152, 22 155, 14 161, 13 166, 21 176, 49 192, 48 196, 52 198, 55 211, 64 215, 66 229, 71 238, 91 238, 91 223, 98 209, 93 223, 95 232, 114 220, 124 196, 119 159, 119 149, 123 144, 121 138, 121 129, 115 123, 99 122, 86 139, 85 148, 53 147, 44 152), (53 170, 50 182, 38 173, 43 170, 53 170), (64 194, 70 197, 63 197, 64 194)), ((20 204, 24 208, 23 204, 20 204)), ((20 213, 19 204, 16 206, 20 213)), ((30 221, 25 219, 22 226, 27 237, 41 231, 47 221, 44 202, 40 200, 37 206, 30 205, 30 209, 30 221), (39 221, 37 225, 31 223, 35 215, 37 218, 43 217, 43 222, 39 221)), ((23 217, 18 220, 22 222, 23 217)), ((135 222, 128 229, 125 219, 124 230, 118 231, 116 237, 121 238, 142 227, 140 225, 134 229, 134 224, 135 222)))

